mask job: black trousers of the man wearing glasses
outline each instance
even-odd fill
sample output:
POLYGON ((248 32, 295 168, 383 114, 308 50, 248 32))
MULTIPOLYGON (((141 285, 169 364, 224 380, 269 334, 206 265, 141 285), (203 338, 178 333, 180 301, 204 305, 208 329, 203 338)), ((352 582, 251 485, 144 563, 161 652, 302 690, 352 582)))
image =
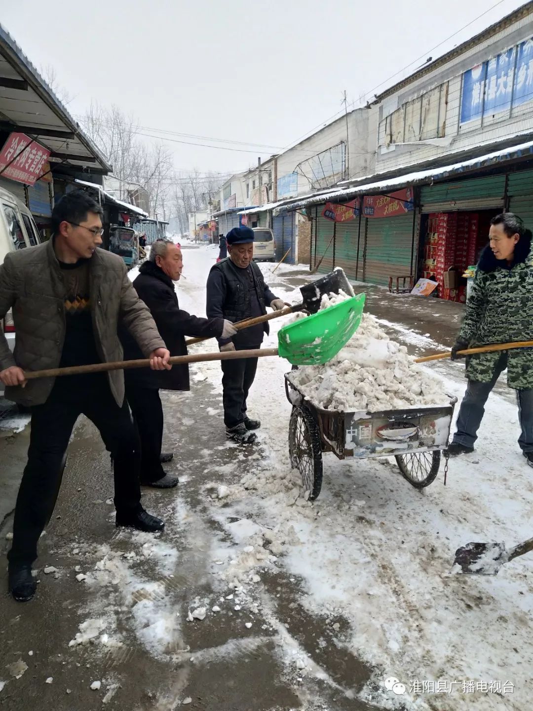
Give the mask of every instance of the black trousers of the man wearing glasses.
POLYGON ((73 378, 58 378, 44 405, 31 410, 28 463, 16 500, 10 562, 30 563, 37 557, 37 542, 53 513, 63 475, 63 458, 80 415, 96 425, 113 456, 115 508, 139 509, 138 442, 128 406, 126 402, 122 407, 117 405, 105 376, 80 377, 89 380, 80 381, 79 387, 72 383, 73 378))

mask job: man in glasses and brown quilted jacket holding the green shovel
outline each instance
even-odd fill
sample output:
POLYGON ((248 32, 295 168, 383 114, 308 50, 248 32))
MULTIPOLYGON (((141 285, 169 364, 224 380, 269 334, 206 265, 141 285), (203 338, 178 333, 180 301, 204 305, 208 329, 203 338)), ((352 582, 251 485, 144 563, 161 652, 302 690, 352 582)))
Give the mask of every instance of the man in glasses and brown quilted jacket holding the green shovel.
POLYGON ((122 360, 117 327, 134 336, 153 370, 170 369, 170 353, 149 310, 129 282, 124 262, 102 245, 102 208, 73 191, 52 213, 53 238, 6 255, 0 267, 0 319, 13 311, 16 347, 0 330, 0 380, 6 397, 31 409, 28 463, 16 501, 9 589, 18 601, 36 591, 31 564, 50 520, 72 429, 80 415, 99 429, 114 459, 117 526, 159 531, 146 513, 136 467, 138 447, 124 402, 121 370, 60 378, 24 378, 24 370, 122 360))

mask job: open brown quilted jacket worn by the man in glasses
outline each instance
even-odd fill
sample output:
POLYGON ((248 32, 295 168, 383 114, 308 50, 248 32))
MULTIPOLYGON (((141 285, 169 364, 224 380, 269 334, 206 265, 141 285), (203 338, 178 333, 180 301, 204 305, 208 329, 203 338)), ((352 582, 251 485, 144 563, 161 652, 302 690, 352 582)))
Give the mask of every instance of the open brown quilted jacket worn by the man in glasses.
MULTIPOLYGON (((65 340, 65 284, 52 240, 6 255, 0 266, 0 319, 13 309, 16 331, 11 353, 0 329, 0 370, 18 365, 23 370, 58 368, 65 340)), ((90 301, 95 340, 102 362, 122 360, 117 335, 126 326, 145 357, 165 344, 154 319, 128 279, 120 257, 96 250, 90 264, 90 301)), ((68 376, 65 376, 68 377, 68 376)), ((108 373, 118 405, 124 402, 122 370, 108 373)), ((6 397, 20 405, 41 405, 55 378, 28 380, 26 387, 6 387, 6 397)))

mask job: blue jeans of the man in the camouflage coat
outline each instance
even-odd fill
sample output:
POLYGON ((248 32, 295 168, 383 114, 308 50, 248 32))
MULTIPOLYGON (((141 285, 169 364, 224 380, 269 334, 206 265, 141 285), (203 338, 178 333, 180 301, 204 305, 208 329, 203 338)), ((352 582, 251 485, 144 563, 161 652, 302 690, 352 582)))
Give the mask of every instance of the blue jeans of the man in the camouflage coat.
MULTIPOLYGON (((485 402, 500 374, 507 368, 507 353, 502 353, 496 364, 490 383, 468 380, 465 397, 457 418, 457 430, 453 442, 473 447, 478 439, 478 429, 485 414, 485 402)), ((522 433, 518 439, 520 449, 533 451, 533 390, 517 390, 518 419, 522 433)))

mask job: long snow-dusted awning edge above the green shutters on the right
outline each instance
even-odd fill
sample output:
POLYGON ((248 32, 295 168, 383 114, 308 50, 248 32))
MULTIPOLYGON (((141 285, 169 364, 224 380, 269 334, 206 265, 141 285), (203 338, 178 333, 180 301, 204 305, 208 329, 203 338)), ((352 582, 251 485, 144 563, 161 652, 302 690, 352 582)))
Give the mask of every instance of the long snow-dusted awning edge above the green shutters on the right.
POLYGON ((455 175, 456 173, 468 172, 468 169, 485 168, 491 164, 509 161, 532 154, 533 141, 527 141, 527 143, 507 147, 501 149, 500 151, 493 151, 485 156, 478 156, 477 158, 472 158, 468 161, 461 161, 460 163, 454 163, 449 166, 429 168, 424 171, 411 171, 411 173, 404 173, 404 175, 397 176, 396 178, 387 178, 387 180, 364 183, 363 185, 352 188, 336 188, 335 190, 328 192, 316 193, 316 195, 309 198, 303 198, 289 204, 280 205, 279 208, 276 208, 274 214, 284 213, 288 210, 294 210, 296 208, 303 208, 307 205, 317 205, 330 201, 338 202, 357 195, 383 193, 384 191, 399 189, 406 185, 421 185, 423 183, 429 184, 434 180, 443 180, 443 178, 448 178, 448 176, 455 175))

